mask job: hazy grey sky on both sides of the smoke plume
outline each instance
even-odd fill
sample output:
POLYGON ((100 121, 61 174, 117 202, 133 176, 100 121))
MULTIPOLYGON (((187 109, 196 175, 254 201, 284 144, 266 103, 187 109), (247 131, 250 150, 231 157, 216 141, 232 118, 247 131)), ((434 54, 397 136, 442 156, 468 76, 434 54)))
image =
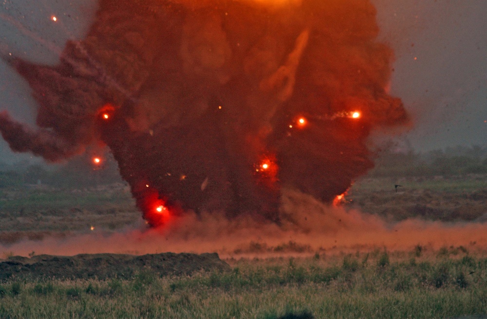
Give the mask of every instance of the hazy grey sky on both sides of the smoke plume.
MULTIPOLYGON (((414 121, 400 138, 418 150, 486 144, 487 1, 373 2, 381 40, 396 52, 391 93, 403 99, 414 121)), ((94 0, 4 0, 0 50, 56 63, 66 39, 83 36, 95 9, 94 0)), ((0 96, 1 110, 34 123, 36 106, 28 85, 3 62, 0 96)), ((21 158, 30 156, 15 156, 0 141, 0 160, 21 158)))

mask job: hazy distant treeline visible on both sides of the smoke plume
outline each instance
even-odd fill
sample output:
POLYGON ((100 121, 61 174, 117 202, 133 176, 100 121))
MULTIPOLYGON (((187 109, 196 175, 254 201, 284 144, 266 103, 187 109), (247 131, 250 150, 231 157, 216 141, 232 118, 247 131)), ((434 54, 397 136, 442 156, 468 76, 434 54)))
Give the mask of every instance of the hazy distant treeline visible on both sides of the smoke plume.
MULTIPOLYGON (((398 151, 387 147, 376 154, 376 177, 452 176, 487 174, 487 146, 456 146, 429 152, 398 151)), ((0 163, 0 188, 48 185, 89 187, 123 182, 116 161, 108 156, 96 165, 88 156, 65 164, 0 163)))

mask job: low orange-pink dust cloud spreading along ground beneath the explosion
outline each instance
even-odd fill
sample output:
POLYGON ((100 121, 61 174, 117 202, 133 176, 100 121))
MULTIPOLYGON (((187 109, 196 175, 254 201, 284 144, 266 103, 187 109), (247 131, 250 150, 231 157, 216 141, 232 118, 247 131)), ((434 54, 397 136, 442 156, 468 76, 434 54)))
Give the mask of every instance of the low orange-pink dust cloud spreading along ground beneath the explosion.
POLYGON ((285 190, 282 224, 253 216, 228 219, 224 213, 187 213, 163 228, 127 229, 46 237, 0 246, 4 253, 75 255, 79 253, 217 252, 222 258, 306 256, 316 252, 439 249, 464 246, 485 250, 487 225, 405 220, 388 224, 374 215, 323 204, 310 195, 285 190))

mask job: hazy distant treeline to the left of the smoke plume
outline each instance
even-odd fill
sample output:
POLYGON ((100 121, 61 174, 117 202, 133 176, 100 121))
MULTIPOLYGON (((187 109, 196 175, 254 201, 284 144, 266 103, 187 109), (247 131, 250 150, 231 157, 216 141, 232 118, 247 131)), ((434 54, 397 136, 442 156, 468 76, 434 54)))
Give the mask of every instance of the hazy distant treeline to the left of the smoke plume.
POLYGON ((29 161, 0 163, 0 188, 46 185, 53 187, 90 187, 123 182, 112 156, 95 164, 88 156, 79 156, 64 164, 47 165, 29 161))

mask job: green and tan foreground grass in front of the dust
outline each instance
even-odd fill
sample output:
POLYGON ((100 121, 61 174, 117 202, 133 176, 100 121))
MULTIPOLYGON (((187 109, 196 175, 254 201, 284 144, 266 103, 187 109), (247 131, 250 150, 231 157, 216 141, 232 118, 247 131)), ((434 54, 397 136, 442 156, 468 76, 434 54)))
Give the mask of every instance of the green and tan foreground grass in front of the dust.
POLYGON ((464 248, 429 256, 229 260, 232 270, 131 280, 10 280, 0 318, 452 318, 487 313, 487 258, 464 248))

